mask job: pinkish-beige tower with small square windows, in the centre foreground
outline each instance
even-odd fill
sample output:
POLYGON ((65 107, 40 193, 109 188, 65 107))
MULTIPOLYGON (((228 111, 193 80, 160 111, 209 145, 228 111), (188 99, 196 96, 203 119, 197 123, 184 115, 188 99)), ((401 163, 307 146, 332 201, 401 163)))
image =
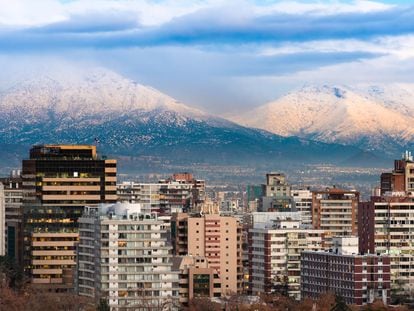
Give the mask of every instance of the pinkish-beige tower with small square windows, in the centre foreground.
POLYGON ((171 233, 175 255, 207 258, 219 274, 223 295, 242 292, 242 228, 236 218, 179 213, 173 215, 171 233))

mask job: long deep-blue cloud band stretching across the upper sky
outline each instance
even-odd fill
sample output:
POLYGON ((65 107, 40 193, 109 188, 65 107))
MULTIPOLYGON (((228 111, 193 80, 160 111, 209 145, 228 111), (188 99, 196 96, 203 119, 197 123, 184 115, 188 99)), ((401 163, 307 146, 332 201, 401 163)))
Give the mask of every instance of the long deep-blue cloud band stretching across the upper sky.
POLYGON ((414 32, 414 6, 367 12, 319 11, 255 14, 249 5, 201 9, 155 26, 138 23, 136 12, 71 15, 46 26, 0 32, 3 50, 128 48, 162 45, 283 44, 329 39, 371 40, 414 32))

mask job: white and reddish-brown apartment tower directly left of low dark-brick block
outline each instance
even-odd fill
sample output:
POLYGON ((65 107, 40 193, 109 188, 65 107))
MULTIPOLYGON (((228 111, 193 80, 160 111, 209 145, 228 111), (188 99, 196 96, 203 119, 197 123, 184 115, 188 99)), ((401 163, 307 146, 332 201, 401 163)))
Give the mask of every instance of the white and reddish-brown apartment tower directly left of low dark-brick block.
POLYGON ((251 294, 284 291, 300 299, 301 252, 321 250, 324 231, 301 227, 300 213, 254 214, 257 219, 249 230, 251 294))

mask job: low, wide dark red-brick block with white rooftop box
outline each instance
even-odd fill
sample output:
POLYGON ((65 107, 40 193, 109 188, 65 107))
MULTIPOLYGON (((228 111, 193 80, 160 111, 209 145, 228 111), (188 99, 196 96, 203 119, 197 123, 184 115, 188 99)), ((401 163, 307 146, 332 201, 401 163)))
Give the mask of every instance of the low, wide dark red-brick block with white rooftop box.
POLYGON ((317 299, 333 292, 347 304, 390 301, 390 258, 358 254, 358 237, 334 237, 331 251, 304 251, 301 296, 317 299))

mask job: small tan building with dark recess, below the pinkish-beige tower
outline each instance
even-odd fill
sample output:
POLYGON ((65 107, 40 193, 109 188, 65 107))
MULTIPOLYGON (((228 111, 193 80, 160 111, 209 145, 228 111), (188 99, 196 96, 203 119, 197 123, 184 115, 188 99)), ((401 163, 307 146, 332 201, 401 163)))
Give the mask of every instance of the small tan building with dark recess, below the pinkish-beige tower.
POLYGON ((193 298, 221 297, 220 277, 205 257, 179 256, 173 262, 174 271, 179 271, 181 304, 188 306, 193 298))

